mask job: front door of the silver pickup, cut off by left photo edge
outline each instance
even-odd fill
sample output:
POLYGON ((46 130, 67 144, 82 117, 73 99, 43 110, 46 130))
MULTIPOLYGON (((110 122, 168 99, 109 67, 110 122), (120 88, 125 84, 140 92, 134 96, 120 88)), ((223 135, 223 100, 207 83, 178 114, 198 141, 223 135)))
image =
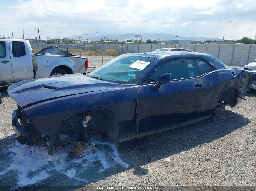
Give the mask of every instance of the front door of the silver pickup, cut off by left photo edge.
POLYGON ((8 40, 0 40, 0 82, 14 81, 8 40))

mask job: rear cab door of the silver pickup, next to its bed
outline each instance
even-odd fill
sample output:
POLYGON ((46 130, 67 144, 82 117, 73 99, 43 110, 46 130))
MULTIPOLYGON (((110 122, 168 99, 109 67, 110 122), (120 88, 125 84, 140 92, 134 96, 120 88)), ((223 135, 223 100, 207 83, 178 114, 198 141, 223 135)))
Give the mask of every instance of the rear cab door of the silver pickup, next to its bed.
POLYGON ((32 52, 27 41, 9 40, 12 72, 15 81, 34 78, 32 52))

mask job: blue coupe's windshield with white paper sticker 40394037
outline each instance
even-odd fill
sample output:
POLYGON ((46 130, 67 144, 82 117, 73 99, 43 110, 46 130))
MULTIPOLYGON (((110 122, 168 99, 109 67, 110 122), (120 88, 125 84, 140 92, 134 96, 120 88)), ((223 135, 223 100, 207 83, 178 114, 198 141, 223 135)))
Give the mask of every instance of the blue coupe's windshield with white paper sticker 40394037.
POLYGON ((153 58, 121 55, 89 74, 89 77, 119 84, 134 84, 155 61, 153 58))

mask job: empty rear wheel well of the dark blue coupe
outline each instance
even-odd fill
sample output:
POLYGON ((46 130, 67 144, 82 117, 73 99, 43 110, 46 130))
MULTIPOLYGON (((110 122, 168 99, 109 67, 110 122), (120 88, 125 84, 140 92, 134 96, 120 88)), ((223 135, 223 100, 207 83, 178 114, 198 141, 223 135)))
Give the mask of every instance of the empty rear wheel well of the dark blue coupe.
POLYGON ((239 94, 238 89, 231 87, 225 90, 218 101, 218 103, 222 104, 229 104, 230 107, 235 107, 237 103, 237 95, 239 94))

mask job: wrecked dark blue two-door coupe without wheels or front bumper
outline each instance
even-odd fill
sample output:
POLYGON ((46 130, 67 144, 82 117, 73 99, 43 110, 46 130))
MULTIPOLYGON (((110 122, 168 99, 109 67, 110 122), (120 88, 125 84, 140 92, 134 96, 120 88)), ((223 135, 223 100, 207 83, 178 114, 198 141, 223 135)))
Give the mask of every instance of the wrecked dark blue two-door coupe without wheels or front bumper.
POLYGON ((95 148, 92 132, 122 142, 223 119, 224 107, 245 100, 252 81, 251 72, 208 54, 149 52, 123 54, 91 73, 18 82, 8 93, 18 103, 12 115, 18 142, 45 145, 50 155, 73 143, 79 157, 95 148))

